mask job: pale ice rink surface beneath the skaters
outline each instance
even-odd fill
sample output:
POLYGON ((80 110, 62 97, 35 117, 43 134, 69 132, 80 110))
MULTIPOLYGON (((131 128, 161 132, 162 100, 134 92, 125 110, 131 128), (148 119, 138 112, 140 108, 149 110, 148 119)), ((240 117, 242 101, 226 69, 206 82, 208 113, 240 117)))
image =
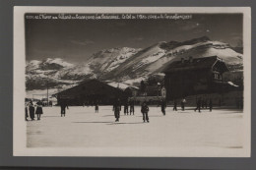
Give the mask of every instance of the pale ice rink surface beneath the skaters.
MULTIPOLYGON (((240 149, 243 146, 241 110, 217 109, 201 113, 189 110, 176 112, 150 106, 150 123, 144 123, 140 107, 135 115, 115 118, 111 106, 71 106, 66 117, 60 108, 44 107, 40 121, 27 122, 28 147, 211 147, 240 149)), ((230 153, 231 154, 231 153, 230 153)))

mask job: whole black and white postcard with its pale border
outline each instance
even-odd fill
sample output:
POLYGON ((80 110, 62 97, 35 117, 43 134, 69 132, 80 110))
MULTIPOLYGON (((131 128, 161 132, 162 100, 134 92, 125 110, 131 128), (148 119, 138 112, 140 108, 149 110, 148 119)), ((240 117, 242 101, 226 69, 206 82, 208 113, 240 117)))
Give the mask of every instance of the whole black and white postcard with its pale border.
POLYGON ((251 10, 15 7, 15 156, 250 157, 251 10))

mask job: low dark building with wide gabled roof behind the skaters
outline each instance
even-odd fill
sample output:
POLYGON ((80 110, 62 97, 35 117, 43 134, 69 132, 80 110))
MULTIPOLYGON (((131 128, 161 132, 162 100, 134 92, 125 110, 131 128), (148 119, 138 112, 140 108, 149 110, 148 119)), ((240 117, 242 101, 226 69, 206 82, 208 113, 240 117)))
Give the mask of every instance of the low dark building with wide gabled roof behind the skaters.
POLYGON ((58 103, 66 100, 69 105, 93 105, 96 102, 113 104, 117 98, 120 100, 127 98, 123 90, 96 80, 85 81, 80 85, 58 92, 54 96, 58 103))

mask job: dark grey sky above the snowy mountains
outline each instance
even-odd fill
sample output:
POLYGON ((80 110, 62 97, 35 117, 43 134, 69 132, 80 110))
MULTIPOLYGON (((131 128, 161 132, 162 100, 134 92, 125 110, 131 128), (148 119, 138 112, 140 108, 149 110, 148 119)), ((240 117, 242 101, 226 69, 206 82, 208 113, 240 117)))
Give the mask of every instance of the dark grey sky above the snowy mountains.
POLYGON ((242 39, 242 15, 198 14, 189 20, 27 19, 27 60, 58 57, 76 63, 102 49, 145 48, 204 35, 236 46, 242 39))

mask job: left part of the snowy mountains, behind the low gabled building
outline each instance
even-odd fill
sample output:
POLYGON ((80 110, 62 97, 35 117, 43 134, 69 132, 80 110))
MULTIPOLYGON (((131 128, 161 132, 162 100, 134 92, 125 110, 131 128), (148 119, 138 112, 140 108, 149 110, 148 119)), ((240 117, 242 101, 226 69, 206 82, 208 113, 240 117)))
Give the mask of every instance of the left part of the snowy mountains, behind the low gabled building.
POLYGON ((32 60, 27 62, 26 82, 27 89, 46 88, 58 85, 74 85, 86 79, 97 79, 101 75, 118 67, 140 49, 112 48, 101 50, 88 61, 81 64, 71 64, 60 58, 46 60, 32 60))

